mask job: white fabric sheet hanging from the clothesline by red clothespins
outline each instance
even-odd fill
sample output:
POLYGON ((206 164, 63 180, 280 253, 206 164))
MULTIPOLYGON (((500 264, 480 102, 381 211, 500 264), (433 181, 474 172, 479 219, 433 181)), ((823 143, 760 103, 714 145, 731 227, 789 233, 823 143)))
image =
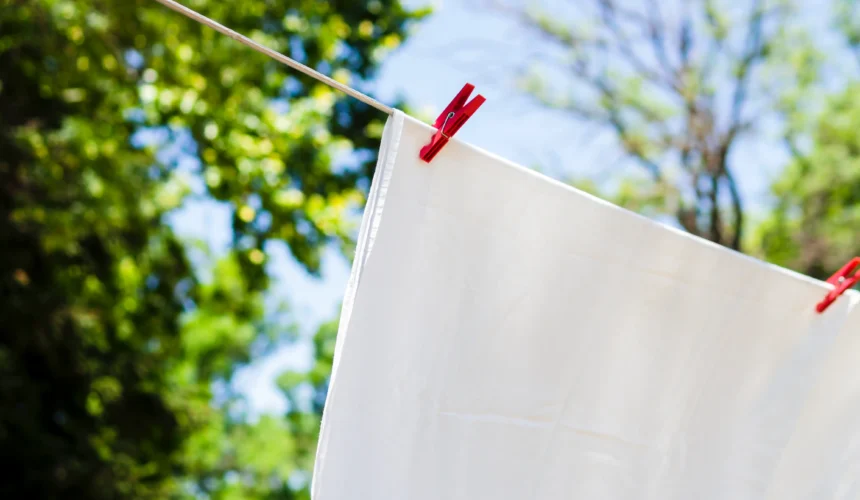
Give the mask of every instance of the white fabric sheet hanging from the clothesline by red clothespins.
POLYGON ((849 292, 386 125, 315 500, 860 498, 849 292))

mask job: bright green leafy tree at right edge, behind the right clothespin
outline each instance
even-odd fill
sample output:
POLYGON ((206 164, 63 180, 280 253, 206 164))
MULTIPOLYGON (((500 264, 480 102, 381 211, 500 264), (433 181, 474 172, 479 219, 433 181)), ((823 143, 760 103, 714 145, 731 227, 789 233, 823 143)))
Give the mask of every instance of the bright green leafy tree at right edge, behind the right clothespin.
POLYGON ((774 208, 756 231, 760 256, 822 279, 860 255, 860 10, 850 0, 834 6, 835 32, 855 59, 825 61, 808 46, 795 53, 800 85, 781 103, 792 160, 774 182, 774 208), (815 86, 826 62, 837 63, 839 71, 829 74, 846 81, 844 89, 815 86), (816 96, 824 96, 823 105, 810 106, 822 100, 816 96))

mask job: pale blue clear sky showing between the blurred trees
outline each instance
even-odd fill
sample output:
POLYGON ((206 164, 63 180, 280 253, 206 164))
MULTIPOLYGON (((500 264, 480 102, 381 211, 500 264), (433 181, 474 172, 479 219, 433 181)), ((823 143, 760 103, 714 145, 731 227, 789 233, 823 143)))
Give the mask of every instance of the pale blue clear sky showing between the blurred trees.
MULTIPOLYGON (((535 50, 533 41, 508 16, 478 9, 477 3, 433 3, 434 14, 382 66, 374 83, 376 95, 389 102, 403 96, 422 114, 435 117, 470 82, 487 102, 461 129, 459 138, 553 177, 599 175, 618 168, 623 156, 610 134, 543 109, 516 89, 511 77, 528 63, 535 50)), ((763 203, 771 177, 785 162, 773 139, 765 133, 739 145, 742 163, 754 167, 741 172, 747 200, 763 203)), ((224 206, 189 203, 172 223, 180 234, 203 238, 214 248, 229 242, 230 214, 224 206)), ((312 332, 319 322, 337 314, 349 273, 349 263, 342 256, 328 252, 322 278, 314 279, 296 265, 283 245, 273 245, 268 253, 275 278, 272 293, 288 299, 304 332, 312 332)), ((307 342, 279 349, 242 369, 234 384, 247 394, 253 412, 282 411, 285 403, 274 379, 285 369, 305 366, 309 358, 307 342)))

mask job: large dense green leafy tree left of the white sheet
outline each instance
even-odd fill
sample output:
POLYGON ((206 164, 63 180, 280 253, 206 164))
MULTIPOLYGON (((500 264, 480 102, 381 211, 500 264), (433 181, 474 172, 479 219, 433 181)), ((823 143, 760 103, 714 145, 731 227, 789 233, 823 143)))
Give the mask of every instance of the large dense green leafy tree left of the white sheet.
MULTIPOLYGON (((359 87, 420 17, 188 5, 359 87)), ((293 498, 315 442, 213 406, 212 386, 289 339, 263 307, 264 244, 313 272, 348 240, 384 116, 150 0, 0 7, 0 492, 293 498), (208 278, 165 223, 190 193, 234 207, 208 278)))

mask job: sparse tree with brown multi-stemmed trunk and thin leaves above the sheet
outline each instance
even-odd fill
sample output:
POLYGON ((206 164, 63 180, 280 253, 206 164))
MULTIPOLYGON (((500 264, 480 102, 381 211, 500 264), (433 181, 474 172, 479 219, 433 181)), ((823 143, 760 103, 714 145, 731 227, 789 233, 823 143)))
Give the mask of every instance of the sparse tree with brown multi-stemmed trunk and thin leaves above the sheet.
POLYGON ((570 16, 496 5, 547 49, 523 75, 526 91, 608 127, 642 167, 644 175, 619 175, 606 197, 742 248, 747 214, 733 153, 778 116, 774 96, 793 84, 768 74, 780 62, 775 49, 794 35, 787 2, 593 0, 570 16))

